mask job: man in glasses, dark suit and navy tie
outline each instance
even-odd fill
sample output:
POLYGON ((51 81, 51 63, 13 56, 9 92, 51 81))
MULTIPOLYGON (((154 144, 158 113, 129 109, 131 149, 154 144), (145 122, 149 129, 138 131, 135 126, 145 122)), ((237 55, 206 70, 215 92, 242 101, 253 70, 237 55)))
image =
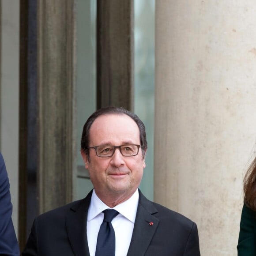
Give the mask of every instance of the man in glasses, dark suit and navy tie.
POLYGON ((81 154, 94 189, 38 216, 23 256, 200 256, 196 224, 138 189, 146 151, 145 127, 135 114, 116 107, 93 113, 81 154), (106 220, 106 209, 116 212, 113 220, 106 220))

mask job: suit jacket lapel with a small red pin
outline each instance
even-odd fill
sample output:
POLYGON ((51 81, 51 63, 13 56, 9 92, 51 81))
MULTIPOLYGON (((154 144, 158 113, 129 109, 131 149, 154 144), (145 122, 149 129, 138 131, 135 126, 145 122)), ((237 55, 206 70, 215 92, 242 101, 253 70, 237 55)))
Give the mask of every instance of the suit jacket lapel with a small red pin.
POLYGON ((156 208, 139 191, 139 204, 132 233, 132 240, 127 256, 144 255, 158 226, 158 218, 152 214, 156 208))

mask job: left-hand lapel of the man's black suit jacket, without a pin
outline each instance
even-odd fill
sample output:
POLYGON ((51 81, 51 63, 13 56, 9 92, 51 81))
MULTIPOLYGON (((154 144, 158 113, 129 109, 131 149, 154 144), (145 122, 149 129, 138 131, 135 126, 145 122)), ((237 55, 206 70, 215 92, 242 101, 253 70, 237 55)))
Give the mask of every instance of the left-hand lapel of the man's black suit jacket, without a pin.
POLYGON ((75 256, 90 256, 87 241, 87 213, 92 191, 70 209, 66 216, 66 228, 75 256))

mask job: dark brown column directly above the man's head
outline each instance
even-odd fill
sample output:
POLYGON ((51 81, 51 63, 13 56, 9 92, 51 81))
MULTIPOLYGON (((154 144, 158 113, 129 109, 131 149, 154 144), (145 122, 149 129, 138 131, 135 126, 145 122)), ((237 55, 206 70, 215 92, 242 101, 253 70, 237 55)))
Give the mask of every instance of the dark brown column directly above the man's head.
POLYGON ((97 108, 133 109, 133 5, 97 1, 97 108))

